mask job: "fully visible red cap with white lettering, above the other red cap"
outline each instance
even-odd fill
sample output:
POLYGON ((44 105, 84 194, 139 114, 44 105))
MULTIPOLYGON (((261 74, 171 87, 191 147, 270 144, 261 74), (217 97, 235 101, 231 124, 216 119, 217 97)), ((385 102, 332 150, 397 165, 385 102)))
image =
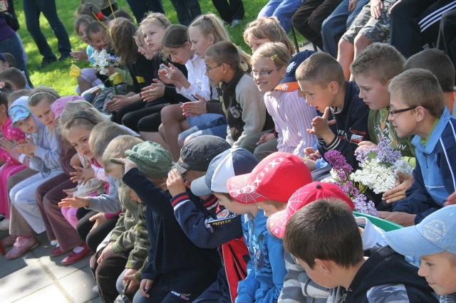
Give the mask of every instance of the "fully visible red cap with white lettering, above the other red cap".
POLYGON ((229 178, 227 187, 229 196, 239 203, 286 203, 298 188, 311 181, 311 173, 299 156, 277 151, 259 162, 252 173, 229 178))

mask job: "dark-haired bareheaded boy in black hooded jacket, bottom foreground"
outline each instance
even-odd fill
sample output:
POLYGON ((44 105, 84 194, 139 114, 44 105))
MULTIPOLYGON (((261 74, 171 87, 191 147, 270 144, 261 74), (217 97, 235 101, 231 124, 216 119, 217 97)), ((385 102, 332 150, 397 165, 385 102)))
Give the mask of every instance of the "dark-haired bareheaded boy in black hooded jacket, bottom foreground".
POLYGON ((416 267, 386 246, 363 256, 358 225, 346 201, 323 198, 297 211, 284 246, 330 302, 437 302, 416 267))

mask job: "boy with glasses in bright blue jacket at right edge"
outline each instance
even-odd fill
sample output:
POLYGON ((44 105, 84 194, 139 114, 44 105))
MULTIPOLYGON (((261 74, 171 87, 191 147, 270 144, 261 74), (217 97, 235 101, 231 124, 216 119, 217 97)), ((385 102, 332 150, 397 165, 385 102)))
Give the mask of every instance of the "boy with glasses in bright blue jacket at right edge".
POLYGON ((442 88, 429 70, 407 70, 391 80, 388 90, 388 120, 398 137, 415 135, 416 166, 407 197, 393 205, 393 213, 380 216, 414 225, 442 208, 455 191, 456 119, 445 107, 442 88))

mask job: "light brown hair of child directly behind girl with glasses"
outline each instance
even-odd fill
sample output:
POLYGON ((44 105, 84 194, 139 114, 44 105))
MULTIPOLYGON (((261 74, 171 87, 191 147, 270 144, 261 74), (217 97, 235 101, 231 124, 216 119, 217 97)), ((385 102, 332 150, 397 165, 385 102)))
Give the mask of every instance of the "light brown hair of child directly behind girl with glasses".
MULTIPOLYGON (((294 48, 286 35, 284 28, 276 17, 261 17, 247 24, 244 30, 244 42, 249 45, 248 39, 269 39, 271 42, 284 43, 290 55, 294 54, 294 48)), ((250 46, 252 48, 252 46, 250 46)))

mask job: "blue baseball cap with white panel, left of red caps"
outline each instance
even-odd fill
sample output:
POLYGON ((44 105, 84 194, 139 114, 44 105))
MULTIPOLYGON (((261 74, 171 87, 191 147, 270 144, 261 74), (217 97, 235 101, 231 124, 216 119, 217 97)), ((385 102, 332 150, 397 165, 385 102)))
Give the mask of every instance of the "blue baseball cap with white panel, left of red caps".
POLYGON ((207 196, 214 191, 228 193, 228 179, 248 174, 257 164, 258 159, 247 149, 228 149, 212 159, 205 176, 192 181, 192 193, 196 196, 207 196))

